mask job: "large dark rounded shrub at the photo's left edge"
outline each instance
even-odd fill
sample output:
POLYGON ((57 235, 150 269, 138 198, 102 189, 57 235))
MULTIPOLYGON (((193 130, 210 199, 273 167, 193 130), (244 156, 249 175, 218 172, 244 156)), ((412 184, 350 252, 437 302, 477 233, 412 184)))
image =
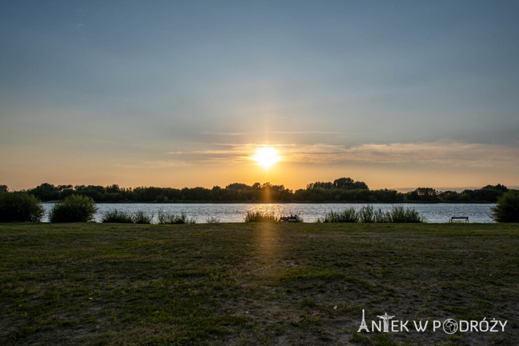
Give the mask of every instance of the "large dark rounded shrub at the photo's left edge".
POLYGON ((43 216, 39 199, 26 192, 0 192, 0 221, 26 221, 43 216))

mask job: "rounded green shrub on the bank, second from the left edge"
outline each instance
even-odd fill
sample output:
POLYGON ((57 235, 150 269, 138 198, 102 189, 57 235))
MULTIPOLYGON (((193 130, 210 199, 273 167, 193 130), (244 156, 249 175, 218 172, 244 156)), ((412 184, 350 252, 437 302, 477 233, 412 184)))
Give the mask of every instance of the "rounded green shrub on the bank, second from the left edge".
POLYGON ((51 222, 92 221, 97 206, 92 198, 83 195, 70 195, 56 202, 50 211, 51 222))

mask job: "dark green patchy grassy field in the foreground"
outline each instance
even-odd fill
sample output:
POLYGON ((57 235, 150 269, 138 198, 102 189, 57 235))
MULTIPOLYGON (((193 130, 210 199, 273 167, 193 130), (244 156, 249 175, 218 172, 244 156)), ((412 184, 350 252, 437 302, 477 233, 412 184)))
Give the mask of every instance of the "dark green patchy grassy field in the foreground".
POLYGON ((0 343, 519 344, 518 254, 518 224, 0 224, 0 343))

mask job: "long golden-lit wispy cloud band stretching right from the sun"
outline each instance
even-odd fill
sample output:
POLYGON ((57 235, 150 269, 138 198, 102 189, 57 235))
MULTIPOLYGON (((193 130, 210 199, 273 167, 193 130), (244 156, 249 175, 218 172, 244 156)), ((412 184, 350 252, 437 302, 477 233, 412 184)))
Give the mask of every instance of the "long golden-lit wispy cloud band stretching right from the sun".
MULTIPOLYGON (((239 164, 251 159, 262 143, 214 143, 215 148, 185 152, 186 161, 198 163, 239 164), (197 158, 197 155, 203 156, 197 158)), ((519 148, 506 145, 428 142, 428 143, 366 143, 352 147, 345 145, 317 144, 269 144, 276 148, 285 162, 340 164, 340 163, 435 163, 450 166, 491 167, 517 165, 519 148)))

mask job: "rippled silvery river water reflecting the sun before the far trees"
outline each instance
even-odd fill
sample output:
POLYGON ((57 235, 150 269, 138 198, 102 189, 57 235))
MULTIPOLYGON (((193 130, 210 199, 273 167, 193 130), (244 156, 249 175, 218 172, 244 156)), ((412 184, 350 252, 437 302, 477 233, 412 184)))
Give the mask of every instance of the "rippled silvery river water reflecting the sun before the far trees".
MULTIPOLYGON (((187 217, 195 218, 198 223, 206 222, 208 217, 215 217, 221 222, 243 222, 245 212, 248 210, 261 210, 273 212, 278 216, 286 216, 297 214, 303 217, 306 222, 313 222, 316 218, 322 216, 326 211, 342 211, 345 208, 353 206, 357 210, 364 204, 360 203, 340 203, 340 204, 316 204, 316 203, 196 203, 196 204, 169 204, 169 203, 103 203, 98 204, 98 212, 95 214, 95 221, 101 222, 103 212, 117 209, 134 213, 142 210, 147 215, 153 215, 157 220, 157 212, 181 214, 184 212, 187 217)), ((391 210, 394 205, 392 203, 373 204, 374 209, 382 209, 382 211, 391 210)), ((52 208, 52 203, 44 203, 45 216, 43 221, 48 220, 48 212, 52 208)), ((451 216, 468 216, 470 222, 493 222, 490 218, 490 207, 494 204, 404 204, 404 208, 415 209, 420 215, 425 216, 428 222, 448 222, 451 216)))

